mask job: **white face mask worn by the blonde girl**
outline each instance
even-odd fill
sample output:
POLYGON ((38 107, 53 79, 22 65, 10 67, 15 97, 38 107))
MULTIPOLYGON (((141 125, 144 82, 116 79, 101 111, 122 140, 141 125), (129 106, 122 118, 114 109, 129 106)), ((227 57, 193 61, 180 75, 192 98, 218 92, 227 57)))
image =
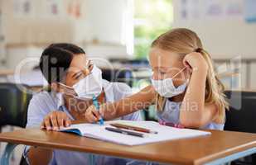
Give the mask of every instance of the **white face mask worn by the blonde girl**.
MULTIPOLYGON (((181 73, 185 68, 182 68, 179 73, 181 73)), ((179 73, 176 73, 176 75, 178 75, 179 73)), ((176 75, 174 75, 172 78, 166 78, 162 80, 151 79, 152 86, 162 97, 175 97, 181 94, 182 92, 185 92, 186 85, 188 82, 187 80, 185 83, 181 84, 179 87, 175 87, 173 84, 173 78, 175 78, 176 75)))

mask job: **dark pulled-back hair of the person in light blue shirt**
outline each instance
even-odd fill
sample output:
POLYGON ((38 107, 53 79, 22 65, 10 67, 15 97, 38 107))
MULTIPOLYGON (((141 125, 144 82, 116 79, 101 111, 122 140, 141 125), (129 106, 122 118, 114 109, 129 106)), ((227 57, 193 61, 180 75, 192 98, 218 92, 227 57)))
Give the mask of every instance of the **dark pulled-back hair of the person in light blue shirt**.
POLYGON ((43 51, 39 67, 49 84, 63 80, 76 54, 85 54, 85 51, 79 46, 67 43, 52 44, 43 51))

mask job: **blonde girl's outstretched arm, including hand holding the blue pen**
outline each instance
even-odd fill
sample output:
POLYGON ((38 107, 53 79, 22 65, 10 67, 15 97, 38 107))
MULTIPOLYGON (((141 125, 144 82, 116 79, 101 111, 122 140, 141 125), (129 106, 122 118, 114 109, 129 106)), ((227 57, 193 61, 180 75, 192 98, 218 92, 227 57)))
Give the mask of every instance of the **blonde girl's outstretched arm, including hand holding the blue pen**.
POLYGON ((156 93, 152 86, 147 86, 142 91, 130 96, 125 97, 119 101, 108 102, 99 107, 99 111, 94 106, 89 106, 85 112, 85 120, 94 122, 99 120, 100 115, 104 120, 113 120, 123 115, 128 115, 134 111, 139 111, 154 103, 156 93))

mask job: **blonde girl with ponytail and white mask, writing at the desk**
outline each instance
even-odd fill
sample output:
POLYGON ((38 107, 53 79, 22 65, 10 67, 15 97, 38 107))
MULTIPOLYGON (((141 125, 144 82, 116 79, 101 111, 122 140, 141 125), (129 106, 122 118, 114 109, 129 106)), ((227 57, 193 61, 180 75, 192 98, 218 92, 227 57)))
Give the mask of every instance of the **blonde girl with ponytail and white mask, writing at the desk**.
POLYGON ((90 106, 85 120, 94 122, 100 115, 112 120, 155 104, 160 121, 223 130, 228 108, 224 87, 194 31, 178 28, 160 35, 152 42, 149 61, 151 86, 121 101, 101 105, 99 112, 90 106))

